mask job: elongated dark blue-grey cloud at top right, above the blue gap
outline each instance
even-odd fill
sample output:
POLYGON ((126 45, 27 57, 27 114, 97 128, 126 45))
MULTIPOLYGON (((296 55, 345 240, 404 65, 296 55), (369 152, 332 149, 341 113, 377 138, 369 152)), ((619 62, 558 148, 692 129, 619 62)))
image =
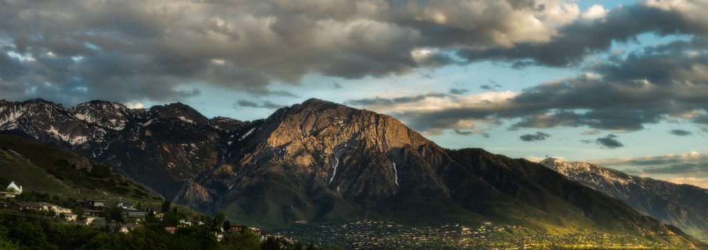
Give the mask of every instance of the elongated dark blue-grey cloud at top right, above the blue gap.
POLYGON ((613 42, 633 42, 637 35, 646 32, 708 35, 708 23, 697 16, 697 11, 708 8, 708 4, 705 1, 684 4, 695 9, 643 4, 619 6, 603 18, 581 18, 565 25, 559 29, 561 35, 549 42, 527 42, 493 49, 459 49, 457 54, 469 61, 510 61, 515 68, 530 65, 562 67, 578 64, 590 54, 605 52, 613 42))

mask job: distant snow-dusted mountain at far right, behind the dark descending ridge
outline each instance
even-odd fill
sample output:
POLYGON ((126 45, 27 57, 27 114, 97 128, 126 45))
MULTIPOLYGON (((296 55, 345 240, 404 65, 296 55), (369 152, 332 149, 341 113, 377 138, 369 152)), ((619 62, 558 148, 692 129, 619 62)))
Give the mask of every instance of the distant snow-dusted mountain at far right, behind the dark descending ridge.
POLYGON ((634 210, 675 225, 691 235, 708 239, 708 189, 634 177, 587 162, 547 158, 542 165, 569 179, 624 201, 634 210))

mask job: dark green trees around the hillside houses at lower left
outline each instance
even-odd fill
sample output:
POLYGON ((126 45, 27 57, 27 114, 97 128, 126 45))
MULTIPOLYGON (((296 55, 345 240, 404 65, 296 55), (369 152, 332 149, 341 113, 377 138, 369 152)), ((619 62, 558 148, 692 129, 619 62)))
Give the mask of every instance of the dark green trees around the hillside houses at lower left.
MULTIPOLYGON (((6 203, 52 201, 59 206, 81 206, 71 199, 29 192, 6 203)), ((164 202, 141 221, 130 220, 118 207, 101 211, 104 223, 82 225, 55 216, 50 210, 0 209, 0 249, 319 249, 284 237, 263 234, 250 227, 234 232, 223 214, 188 218, 164 202), (155 210, 164 213, 162 219, 155 210), (195 222, 195 223, 191 223, 195 222), (128 224, 123 224, 128 223, 128 224), (130 230, 120 231, 123 225, 130 230)))

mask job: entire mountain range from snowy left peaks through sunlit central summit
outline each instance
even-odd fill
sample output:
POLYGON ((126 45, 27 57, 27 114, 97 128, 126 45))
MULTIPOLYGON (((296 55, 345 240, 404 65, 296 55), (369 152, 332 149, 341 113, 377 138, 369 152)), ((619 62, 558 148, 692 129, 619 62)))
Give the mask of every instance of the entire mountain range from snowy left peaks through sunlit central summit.
POLYGON ((0 101, 0 130, 73 150, 165 198, 265 229, 301 220, 493 221, 700 244, 538 163, 447 150, 392 117, 316 99, 256 121, 207 119, 179 103, 0 101))

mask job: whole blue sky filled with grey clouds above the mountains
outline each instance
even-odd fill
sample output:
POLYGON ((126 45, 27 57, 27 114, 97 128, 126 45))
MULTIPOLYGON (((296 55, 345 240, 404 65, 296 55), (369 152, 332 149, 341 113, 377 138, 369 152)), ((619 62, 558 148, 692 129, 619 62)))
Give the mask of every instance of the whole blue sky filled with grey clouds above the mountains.
POLYGON ((445 148, 708 188, 706 0, 0 0, 0 98, 253 120, 311 97, 445 148))

